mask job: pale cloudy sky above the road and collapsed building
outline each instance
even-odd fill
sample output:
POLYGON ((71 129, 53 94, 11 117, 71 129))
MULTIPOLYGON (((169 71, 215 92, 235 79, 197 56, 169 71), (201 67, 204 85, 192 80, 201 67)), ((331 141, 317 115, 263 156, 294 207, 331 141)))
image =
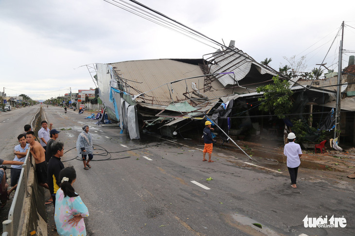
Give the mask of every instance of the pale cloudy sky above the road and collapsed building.
MULTIPOLYGON (((283 57, 296 55, 296 59, 306 56, 307 71, 319 67, 316 64, 324 58, 337 71, 340 37, 336 36, 343 20, 344 49, 355 51, 351 0, 139 2, 220 43, 235 40, 235 47, 256 61, 271 57, 275 69, 287 63, 283 57)), ((72 92, 94 88, 83 65, 202 58, 218 48, 104 0, 0 0, 0 32, 0 89, 5 87, 8 96, 25 93, 34 100, 63 95, 70 87, 72 92)), ((355 52, 344 54, 343 67, 349 55, 355 52)))

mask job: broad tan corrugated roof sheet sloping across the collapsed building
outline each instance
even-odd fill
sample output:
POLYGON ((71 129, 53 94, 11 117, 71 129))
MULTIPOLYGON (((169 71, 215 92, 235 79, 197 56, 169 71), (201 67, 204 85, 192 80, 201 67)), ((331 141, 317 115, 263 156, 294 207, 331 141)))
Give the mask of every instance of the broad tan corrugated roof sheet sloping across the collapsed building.
MULTIPOLYGON (((172 101, 187 100, 183 95, 186 92, 190 92, 187 95, 188 97, 197 99, 198 96, 192 95, 192 82, 196 83, 196 87, 200 89, 200 93, 203 93, 205 77, 198 65, 172 59, 126 61, 109 65, 113 67, 122 81, 129 86, 126 87, 126 91, 131 95, 137 95, 154 89, 138 97, 136 99, 138 102, 168 105, 172 101), (202 77, 166 85, 166 83, 195 76, 202 77), (162 84, 165 85, 161 86, 162 84)), ((207 96, 208 100, 226 96, 232 91, 232 89, 224 89, 222 84, 217 81, 213 82, 212 85, 212 90, 203 93, 207 96)))

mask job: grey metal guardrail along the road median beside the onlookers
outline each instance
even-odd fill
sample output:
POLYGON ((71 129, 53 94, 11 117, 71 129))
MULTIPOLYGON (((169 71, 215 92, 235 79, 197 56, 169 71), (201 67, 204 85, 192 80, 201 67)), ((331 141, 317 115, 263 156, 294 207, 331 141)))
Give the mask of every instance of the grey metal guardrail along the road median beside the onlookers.
MULTIPOLYGON (((31 127, 36 127, 37 119, 40 117, 41 107, 35 114, 35 118, 31 122, 31 127)), ((12 201, 8 219, 2 221, 2 235, 1 236, 18 236, 18 230, 20 229, 20 220, 23 215, 23 204, 25 198, 29 197, 27 190, 27 179, 30 172, 32 163, 30 162, 30 148, 28 149, 24 164, 22 165, 18 185, 15 191, 14 200, 12 201)))

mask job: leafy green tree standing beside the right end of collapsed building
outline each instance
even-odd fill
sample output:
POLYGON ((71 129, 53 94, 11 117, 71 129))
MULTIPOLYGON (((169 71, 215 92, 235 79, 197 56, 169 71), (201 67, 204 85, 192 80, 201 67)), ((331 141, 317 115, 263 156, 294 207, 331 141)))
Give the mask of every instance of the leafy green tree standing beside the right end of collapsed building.
POLYGON ((258 93, 264 92, 264 97, 259 98, 261 102, 259 110, 272 111, 278 118, 285 118, 284 114, 288 114, 292 108, 290 84, 287 80, 280 80, 279 76, 272 77, 273 84, 266 84, 257 87, 258 93))

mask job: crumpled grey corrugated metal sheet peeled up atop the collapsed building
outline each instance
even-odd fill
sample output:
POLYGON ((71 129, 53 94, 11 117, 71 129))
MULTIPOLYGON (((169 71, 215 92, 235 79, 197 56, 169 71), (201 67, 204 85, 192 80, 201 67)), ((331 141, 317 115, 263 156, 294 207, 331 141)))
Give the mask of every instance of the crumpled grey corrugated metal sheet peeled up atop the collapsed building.
POLYGON ((254 67, 260 74, 269 74, 275 76, 276 73, 269 69, 262 67, 259 63, 250 57, 247 53, 234 48, 234 50, 227 49, 225 51, 216 51, 214 54, 214 63, 211 65, 210 72, 234 72, 233 74, 225 75, 218 78, 218 81, 223 84, 223 86, 233 85, 235 81, 240 81, 244 79, 251 67, 254 67), (234 78, 235 77, 235 78, 234 78))

